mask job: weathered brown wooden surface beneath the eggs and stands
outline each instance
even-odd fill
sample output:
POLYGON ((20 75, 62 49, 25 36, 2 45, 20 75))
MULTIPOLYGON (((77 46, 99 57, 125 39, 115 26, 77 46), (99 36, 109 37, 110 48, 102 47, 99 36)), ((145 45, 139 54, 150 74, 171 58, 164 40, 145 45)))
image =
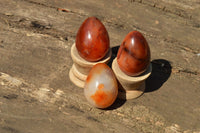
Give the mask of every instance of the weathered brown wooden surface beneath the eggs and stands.
POLYGON ((0 0, 0 9, 0 132, 200 132, 199 0, 0 0), (114 54, 129 31, 146 37, 153 73, 142 97, 99 110, 70 82, 70 47, 89 16, 114 54))

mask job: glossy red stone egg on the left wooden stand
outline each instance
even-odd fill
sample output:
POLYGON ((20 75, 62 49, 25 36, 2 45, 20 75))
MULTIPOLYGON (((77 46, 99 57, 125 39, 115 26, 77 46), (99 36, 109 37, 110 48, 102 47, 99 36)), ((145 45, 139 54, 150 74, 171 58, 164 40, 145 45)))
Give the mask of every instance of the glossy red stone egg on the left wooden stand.
POLYGON ((76 48, 87 61, 102 59, 110 48, 109 36, 104 25, 95 17, 86 19, 78 30, 76 48))

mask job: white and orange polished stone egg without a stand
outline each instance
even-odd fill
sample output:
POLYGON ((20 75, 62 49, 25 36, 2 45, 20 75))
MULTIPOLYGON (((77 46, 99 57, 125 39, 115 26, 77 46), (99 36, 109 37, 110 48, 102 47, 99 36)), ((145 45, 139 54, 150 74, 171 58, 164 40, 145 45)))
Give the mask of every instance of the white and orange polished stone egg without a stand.
POLYGON ((118 94, 118 84, 113 71, 104 63, 92 67, 85 82, 85 97, 97 108, 113 104, 118 94))

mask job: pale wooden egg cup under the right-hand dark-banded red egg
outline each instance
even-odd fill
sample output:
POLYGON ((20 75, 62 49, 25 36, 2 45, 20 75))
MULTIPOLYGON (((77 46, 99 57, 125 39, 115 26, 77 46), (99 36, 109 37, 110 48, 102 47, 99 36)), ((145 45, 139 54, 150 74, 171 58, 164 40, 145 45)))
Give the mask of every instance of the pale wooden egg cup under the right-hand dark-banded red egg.
POLYGON ((121 71, 117 63, 117 58, 115 58, 112 63, 112 69, 118 79, 118 97, 120 99, 134 99, 141 96, 144 93, 145 80, 150 76, 152 66, 150 64, 146 71, 141 75, 131 77, 121 71))

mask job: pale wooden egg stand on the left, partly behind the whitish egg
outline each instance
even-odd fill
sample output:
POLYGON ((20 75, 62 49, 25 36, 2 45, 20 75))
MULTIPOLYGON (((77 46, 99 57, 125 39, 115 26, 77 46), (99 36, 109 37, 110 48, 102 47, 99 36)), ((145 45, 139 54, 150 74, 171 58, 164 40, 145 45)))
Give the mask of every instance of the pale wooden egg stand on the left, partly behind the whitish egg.
POLYGON ((83 59, 77 49, 76 45, 73 44, 71 47, 71 57, 73 60, 72 68, 69 71, 69 78, 76 86, 80 88, 84 88, 85 80, 87 78, 87 75, 90 72, 90 69, 96 65, 97 63, 108 63, 111 58, 112 51, 109 50, 109 52, 106 54, 106 56, 97 61, 97 62, 89 62, 85 59, 83 59))

